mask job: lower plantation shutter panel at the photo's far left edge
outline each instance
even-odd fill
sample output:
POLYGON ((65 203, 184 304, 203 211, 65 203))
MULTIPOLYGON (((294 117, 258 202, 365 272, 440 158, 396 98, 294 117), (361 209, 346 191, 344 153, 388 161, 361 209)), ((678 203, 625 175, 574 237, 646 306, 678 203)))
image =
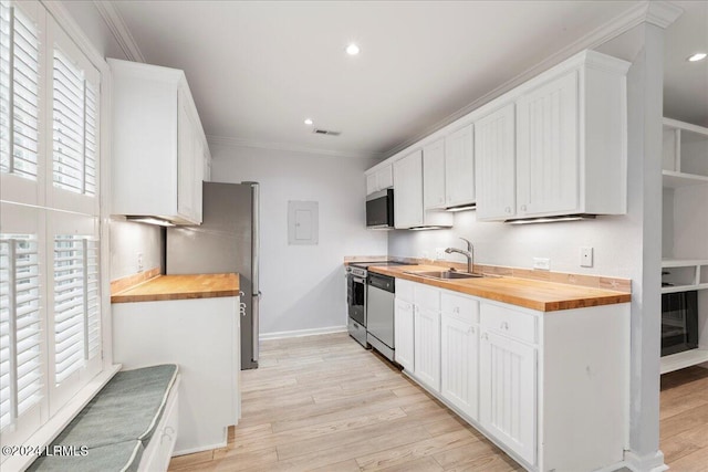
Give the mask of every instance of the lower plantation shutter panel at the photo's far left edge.
POLYGON ((42 398, 37 238, 0 234, 0 429, 42 398))

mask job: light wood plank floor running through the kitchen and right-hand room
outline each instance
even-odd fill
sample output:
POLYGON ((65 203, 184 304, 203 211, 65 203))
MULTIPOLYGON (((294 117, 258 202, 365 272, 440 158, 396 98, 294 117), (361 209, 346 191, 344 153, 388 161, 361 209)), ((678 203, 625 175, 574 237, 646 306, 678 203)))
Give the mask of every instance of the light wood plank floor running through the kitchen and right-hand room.
MULTIPOLYGON (((346 334, 263 342, 241 380, 228 447, 174 458, 170 471, 522 470, 346 334)), ((708 369, 663 376, 660 401, 666 463, 708 471, 708 369)))

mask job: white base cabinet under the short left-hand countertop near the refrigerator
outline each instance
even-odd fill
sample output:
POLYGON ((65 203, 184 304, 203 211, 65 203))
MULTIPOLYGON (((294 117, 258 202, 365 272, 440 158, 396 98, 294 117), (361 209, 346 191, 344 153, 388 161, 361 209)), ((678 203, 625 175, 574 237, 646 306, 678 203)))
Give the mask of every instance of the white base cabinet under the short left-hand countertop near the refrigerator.
POLYGON ((171 426, 163 431, 163 438, 153 438, 174 441, 169 448, 175 455, 226 447, 228 427, 238 424, 238 296, 111 305, 116 364, 123 364, 124 369, 155 364, 179 366, 179 433, 171 426))

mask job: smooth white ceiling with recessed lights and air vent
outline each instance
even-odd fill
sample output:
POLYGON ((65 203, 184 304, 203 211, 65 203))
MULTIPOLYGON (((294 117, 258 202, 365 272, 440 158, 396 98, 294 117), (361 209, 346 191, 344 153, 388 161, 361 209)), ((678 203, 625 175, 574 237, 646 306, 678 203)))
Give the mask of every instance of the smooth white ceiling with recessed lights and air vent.
MULTIPOLYGON (((667 36, 667 114, 708 125, 707 2, 667 36), (702 93, 700 99, 686 90, 702 93), (689 119, 690 118, 690 119, 689 119)), ((214 139, 389 155, 637 1, 116 1, 145 61, 187 74, 214 139), (348 56, 350 42, 361 46, 348 56), (303 120, 342 132, 312 134, 303 120), (217 138, 217 139, 218 139, 217 138)), ((546 61, 548 62, 548 61, 546 61)), ((551 64, 548 64, 551 65, 551 64)), ((537 71, 540 72, 540 71, 537 71)))

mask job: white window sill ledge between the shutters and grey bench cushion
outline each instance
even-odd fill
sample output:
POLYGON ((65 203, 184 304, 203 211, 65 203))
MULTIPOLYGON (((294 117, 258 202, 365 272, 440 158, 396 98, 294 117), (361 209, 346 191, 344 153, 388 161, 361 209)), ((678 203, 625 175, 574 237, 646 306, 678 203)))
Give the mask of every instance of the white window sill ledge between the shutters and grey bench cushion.
MULTIPOLYGON (((49 421, 40 427, 34 434, 32 434, 24 444, 29 444, 33 448, 46 447, 52 442, 66 426, 84 409, 86 405, 95 397, 95 395, 113 378, 113 376, 121 370, 122 365, 116 364, 111 369, 104 369, 101 374, 94 377, 84 388, 79 390, 72 399, 64 405, 49 421)), ((79 444, 81 445, 81 444, 79 444)), ((34 460, 37 455, 10 455, 7 461, 2 463, 2 470, 6 471, 21 471, 27 469, 34 460)))

